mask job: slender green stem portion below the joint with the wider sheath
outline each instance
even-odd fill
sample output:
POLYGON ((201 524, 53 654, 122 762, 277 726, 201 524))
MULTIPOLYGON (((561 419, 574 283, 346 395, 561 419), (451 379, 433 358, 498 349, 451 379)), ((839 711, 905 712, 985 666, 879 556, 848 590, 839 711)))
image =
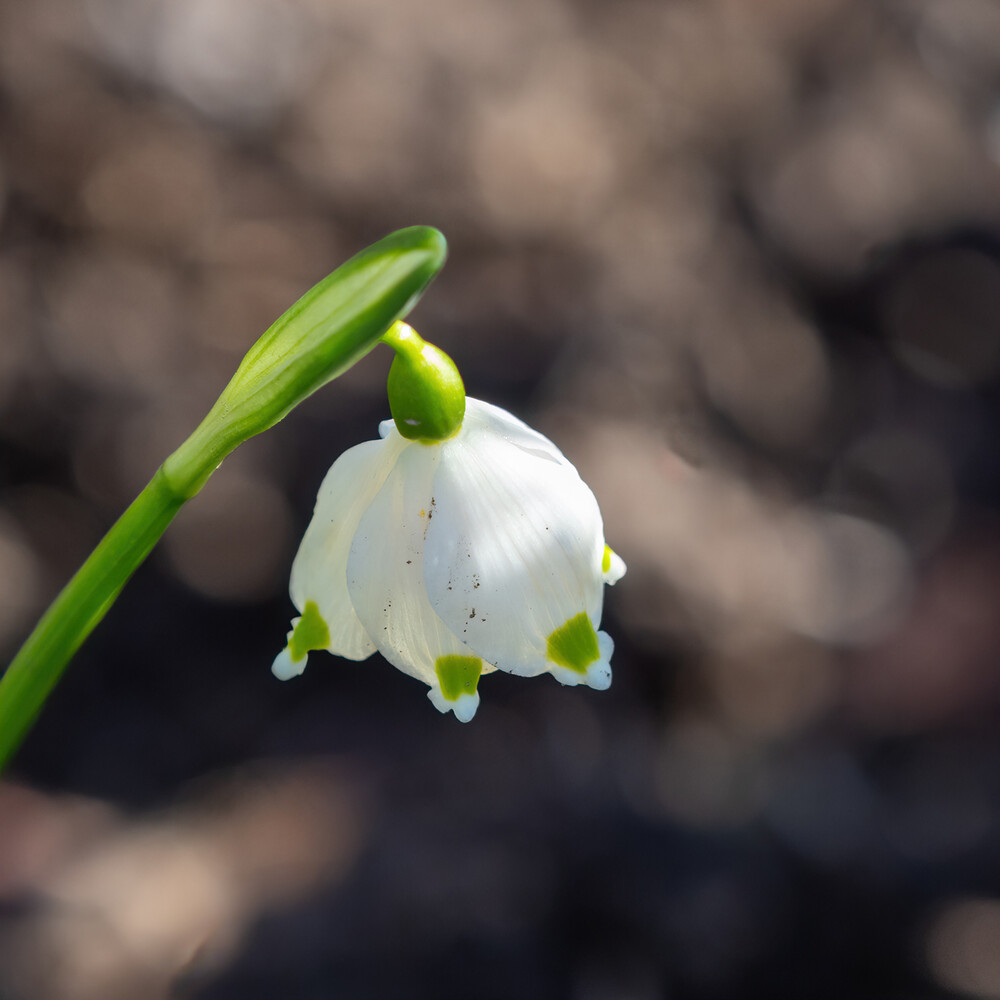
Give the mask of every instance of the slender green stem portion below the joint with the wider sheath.
POLYGON ((159 469, 112 525, 0 680, 0 768, 11 758, 73 654, 114 603, 184 503, 159 469))

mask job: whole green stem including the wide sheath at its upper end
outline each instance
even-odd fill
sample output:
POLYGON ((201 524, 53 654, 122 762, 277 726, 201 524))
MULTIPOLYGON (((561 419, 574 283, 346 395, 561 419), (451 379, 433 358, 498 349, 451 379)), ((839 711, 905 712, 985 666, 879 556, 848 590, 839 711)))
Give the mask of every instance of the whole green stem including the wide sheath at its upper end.
POLYGON ((234 448, 372 350, 445 256, 436 229, 391 233, 306 292, 250 349, 205 419, 115 522, 0 678, 0 769, 185 501, 234 448))

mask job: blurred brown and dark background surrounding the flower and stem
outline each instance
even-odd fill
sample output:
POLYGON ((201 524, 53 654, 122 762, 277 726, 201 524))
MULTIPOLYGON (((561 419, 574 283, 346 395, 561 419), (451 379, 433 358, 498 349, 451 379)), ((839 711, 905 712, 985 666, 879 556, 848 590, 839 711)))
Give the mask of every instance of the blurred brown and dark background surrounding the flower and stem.
POLYGON ((378 351, 0 785, 0 997, 1000 997, 1000 3, 5 0, 0 648, 386 232, 629 565, 606 694, 270 672, 378 351))

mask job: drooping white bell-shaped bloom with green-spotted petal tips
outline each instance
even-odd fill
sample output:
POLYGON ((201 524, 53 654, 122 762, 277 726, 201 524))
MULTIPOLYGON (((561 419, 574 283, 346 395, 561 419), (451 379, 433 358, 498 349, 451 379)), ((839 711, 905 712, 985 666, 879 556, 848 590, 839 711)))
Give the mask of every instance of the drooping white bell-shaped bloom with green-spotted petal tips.
POLYGON ((614 644, 597 627, 625 564, 562 452, 475 399, 447 440, 409 441, 391 420, 379 431, 320 487, 292 566, 301 617, 275 675, 302 673, 310 649, 378 650, 463 722, 496 668, 607 688, 614 644))

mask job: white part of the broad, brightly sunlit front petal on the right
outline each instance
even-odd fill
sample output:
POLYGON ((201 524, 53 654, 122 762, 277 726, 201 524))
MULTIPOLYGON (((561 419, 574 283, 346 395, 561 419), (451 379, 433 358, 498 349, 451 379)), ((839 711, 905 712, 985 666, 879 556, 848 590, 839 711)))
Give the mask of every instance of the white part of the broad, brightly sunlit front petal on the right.
POLYGON ((593 493, 562 453, 496 407, 468 400, 443 442, 424 579, 431 604, 501 670, 549 669, 547 637, 601 618, 604 532, 593 493))

